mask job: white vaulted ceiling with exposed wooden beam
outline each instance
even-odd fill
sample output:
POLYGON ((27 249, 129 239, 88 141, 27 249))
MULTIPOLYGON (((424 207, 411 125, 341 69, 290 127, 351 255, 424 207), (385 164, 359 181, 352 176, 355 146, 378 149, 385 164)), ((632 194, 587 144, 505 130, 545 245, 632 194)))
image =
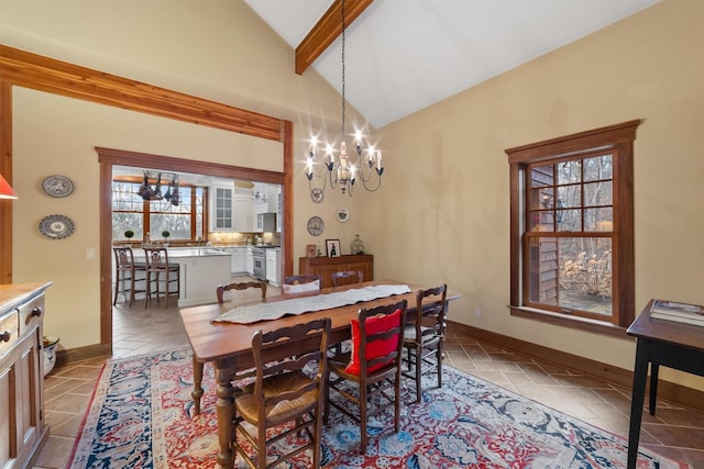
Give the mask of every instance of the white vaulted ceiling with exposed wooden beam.
MULTIPOLYGON (((341 0, 244 1, 341 91, 341 0)), ((345 97, 380 127, 658 1, 346 0, 345 97)))

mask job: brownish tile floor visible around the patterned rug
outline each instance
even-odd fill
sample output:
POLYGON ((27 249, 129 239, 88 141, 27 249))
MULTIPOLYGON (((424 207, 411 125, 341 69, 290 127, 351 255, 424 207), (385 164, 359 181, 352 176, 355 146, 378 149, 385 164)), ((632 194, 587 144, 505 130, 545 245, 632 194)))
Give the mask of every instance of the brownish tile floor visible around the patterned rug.
MULTIPOLYGON (((113 357, 127 357, 187 344, 176 308, 113 310, 113 357)), ((65 468, 105 360, 55 368, 45 379, 46 422, 51 435, 35 468, 65 468)), ((466 335, 447 338, 447 365, 627 437, 629 389, 558 368, 466 335)), ((646 399, 646 403, 647 403, 646 399)), ((656 416, 644 413, 641 445, 704 468, 704 412, 660 401, 656 416)))

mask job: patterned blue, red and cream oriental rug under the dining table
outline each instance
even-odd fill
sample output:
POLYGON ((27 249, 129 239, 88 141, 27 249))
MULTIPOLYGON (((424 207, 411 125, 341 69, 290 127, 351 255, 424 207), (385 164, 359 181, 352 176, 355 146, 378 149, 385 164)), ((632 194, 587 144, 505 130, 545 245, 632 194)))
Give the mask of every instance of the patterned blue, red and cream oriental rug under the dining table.
MULTIPOLYGON (((415 397, 413 386, 408 383, 406 395, 415 397)), ((68 467, 216 468, 217 398, 209 365, 204 388, 201 414, 193 417, 190 347, 108 361, 68 467)), ((322 467, 626 467, 624 438, 450 367, 442 389, 431 388, 421 403, 402 406, 398 434, 389 407, 370 422, 366 455, 359 454, 359 426, 332 410, 323 427, 322 467)), ((306 451, 279 467, 310 466, 306 451)), ((639 469, 688 467, 642 448, 638 457, 639 469)))

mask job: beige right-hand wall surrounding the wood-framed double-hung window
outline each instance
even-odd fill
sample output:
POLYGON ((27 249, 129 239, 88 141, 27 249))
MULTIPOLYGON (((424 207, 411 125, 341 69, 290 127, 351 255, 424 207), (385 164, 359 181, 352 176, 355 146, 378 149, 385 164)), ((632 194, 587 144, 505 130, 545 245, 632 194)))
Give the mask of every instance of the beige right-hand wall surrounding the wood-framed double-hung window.
MULTIPOLYGON (((635 142, 636 310, 651 298, 704 304, 704 2, 693 0, 649 8, 382 129, 386 189, 403 197, 386 192, 369 213, 376 272, 447 281, 462 294, 455 321, 631 368, 630 340, 509 315, 504 149, 634 119, 644 120, 635 142), (392 165, 402 157, 413 164, 392 165)), ((704 380, 667 371, 704 389, 704 380)))

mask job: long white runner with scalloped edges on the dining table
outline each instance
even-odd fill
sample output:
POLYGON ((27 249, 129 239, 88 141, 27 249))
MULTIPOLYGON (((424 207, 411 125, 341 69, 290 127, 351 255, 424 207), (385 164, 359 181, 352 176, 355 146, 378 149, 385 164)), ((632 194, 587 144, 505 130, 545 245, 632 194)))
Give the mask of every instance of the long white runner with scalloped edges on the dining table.
POLYGON ((407 284, 378 284, 355 288, 334 293, 317 294, 315 297, 292 298, 290 300, 274 301, 272 303, 255 303, 238 306, 221 314, 211 322, 251 324, 258 321, 277 320, 286 314, 302 314, 312 311, 330 310, 346 306, 360 301, 372 301, 395 294, 409 293, 407 284))

